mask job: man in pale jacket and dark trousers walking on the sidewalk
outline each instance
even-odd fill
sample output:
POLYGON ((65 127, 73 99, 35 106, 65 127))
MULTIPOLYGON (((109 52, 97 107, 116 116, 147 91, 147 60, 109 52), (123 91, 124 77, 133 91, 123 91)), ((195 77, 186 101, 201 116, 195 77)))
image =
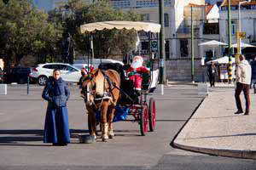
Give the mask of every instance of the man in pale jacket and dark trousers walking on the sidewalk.
POLYGON ((243 91, 244 97, 246 99, 246 111, 244 115, 249 115, 250 111, 250 84, 251 84, 251 76, 252 76, 252 69, 251 65, 245 59, 243 55, 239 56, 240 64, 237 65, 236 68, 236 107, 237 111, 235 114, 243 113, 241 108, 241 99, 240 94, 243 91))

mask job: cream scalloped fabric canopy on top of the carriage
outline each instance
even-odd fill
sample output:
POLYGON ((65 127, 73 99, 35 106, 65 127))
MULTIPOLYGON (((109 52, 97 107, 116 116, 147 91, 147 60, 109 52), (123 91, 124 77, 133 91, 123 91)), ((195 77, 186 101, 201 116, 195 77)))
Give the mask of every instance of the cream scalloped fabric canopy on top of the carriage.
POLYGON ((101 31, 104 29, 126 29, 126 30, 136 30, 136 31, 151 31, 154 33, 160 32, 160 24, 155 24, 151 22, 135 22, 135 21, 123 21, 123 20, 113 20, 104 22, 94 22, 89 24, 84 24, 80 26, 81 33, 101 31))

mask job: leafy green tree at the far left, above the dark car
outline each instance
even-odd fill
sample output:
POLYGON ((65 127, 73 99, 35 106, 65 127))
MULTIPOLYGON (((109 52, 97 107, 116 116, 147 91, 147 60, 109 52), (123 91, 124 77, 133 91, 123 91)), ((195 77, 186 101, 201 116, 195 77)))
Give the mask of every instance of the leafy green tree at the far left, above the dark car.
POLYGON ((29 0, 0 2, 0 51, 17 65, 28 54, 52 54, 61 30, 48 21, 48 14, 32 6, 29 0))

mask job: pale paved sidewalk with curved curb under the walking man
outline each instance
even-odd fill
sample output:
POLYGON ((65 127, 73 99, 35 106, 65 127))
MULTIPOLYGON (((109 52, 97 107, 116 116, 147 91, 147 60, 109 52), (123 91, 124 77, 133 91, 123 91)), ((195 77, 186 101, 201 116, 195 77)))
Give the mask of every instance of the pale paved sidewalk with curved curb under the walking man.
MULTIPOLYGON (((256 95, 249 116, 235 115, 234 89, 213 91, 173 141, 174 147, 216 156, 256 159, 256 95)), ((244 106, 243 94, 241 94, 244 106)))

